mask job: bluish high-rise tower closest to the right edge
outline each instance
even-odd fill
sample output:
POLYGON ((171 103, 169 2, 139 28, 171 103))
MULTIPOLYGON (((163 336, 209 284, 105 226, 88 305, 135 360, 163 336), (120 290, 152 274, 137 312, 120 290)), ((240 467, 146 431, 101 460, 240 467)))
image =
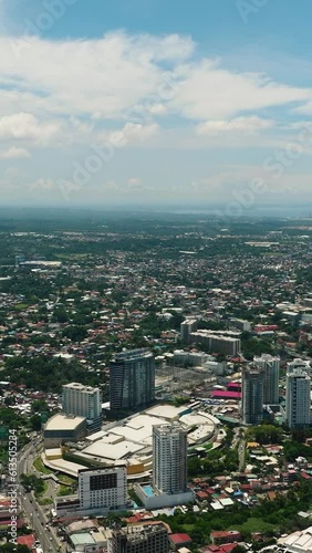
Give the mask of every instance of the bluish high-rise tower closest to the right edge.
POLYGON ((302 368, 287 374, 285 421, 290 428, 304 428, 311 419, 311 378, 302 368))

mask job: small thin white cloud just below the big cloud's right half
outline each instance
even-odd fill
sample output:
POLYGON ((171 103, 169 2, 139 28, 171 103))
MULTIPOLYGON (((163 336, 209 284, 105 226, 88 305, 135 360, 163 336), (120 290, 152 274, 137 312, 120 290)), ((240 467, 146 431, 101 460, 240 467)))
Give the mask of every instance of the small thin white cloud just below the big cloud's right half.
POLYGON ((216 133, 254 133, 270 128, 274 125, 273 121, 261 119, 257 115, 250 117, 237 117, 229 121, 207 121, 197 126, 199 135, 216 134, 216 133))

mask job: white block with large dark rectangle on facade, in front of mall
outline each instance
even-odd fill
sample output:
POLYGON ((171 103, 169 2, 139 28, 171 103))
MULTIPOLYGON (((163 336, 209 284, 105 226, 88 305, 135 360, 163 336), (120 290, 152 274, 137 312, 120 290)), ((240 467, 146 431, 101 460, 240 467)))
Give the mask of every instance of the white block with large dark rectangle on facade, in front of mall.
POLYGON ((116 510, 127 503, 126 467, 79 471, 80 510, 116 510))

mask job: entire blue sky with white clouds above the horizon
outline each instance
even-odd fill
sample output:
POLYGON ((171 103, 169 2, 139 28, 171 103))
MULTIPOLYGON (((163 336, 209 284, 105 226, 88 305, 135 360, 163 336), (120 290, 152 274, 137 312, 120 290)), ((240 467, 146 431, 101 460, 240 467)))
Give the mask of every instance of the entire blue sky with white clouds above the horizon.
POLYGON ((0 0, 2 204, 312 200, 311 18, 311 0, 0 0))

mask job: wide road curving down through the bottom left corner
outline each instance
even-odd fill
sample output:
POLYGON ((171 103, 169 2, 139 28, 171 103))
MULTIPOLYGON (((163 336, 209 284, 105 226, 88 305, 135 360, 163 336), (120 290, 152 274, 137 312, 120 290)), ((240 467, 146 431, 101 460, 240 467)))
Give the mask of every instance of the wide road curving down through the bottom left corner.
MULTIPOLYGON (((31 472, 31 465, 37 457, 37 446, 39 440, 28 444, 18 455, 18 478, 22 473, 31 472)), ((21 508, 24 511, 30 526, 34 530, 37 539, 40 541, 40 546, 44 553, 55 553, 63 550, 59 542, 54 529, 48 526, 48 519, 41 505, 35 502, 33 492, 27 493, 21 484, 19 484, 19 498, 21 508)))

